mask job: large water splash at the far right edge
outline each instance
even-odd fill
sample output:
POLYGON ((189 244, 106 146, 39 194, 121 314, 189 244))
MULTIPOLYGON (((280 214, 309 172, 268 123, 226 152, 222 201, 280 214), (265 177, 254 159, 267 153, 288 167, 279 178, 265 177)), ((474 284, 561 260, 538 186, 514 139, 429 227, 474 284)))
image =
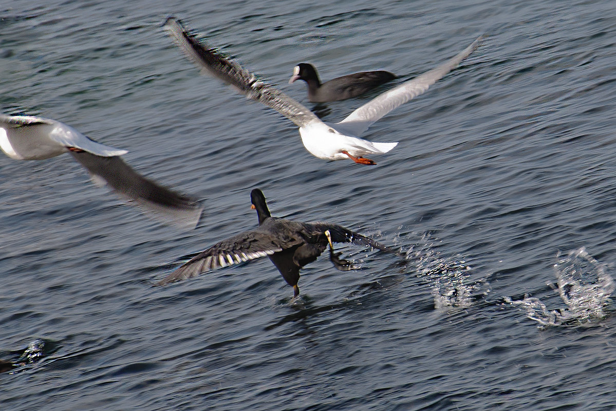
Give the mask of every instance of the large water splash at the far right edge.
POLYGON ((616 284, 606 273, 605 265, 586 252, 585 247, 564 257, 559 253, 554 273, 556 285, 548 285, 561 297, 565 308, 549 310, 538 298, 527 296, 523 300, 505 297, 505 301, 524 308, 526 316, 537 321, 540 327, 584 324, 607 316, 609 297, 616 284))

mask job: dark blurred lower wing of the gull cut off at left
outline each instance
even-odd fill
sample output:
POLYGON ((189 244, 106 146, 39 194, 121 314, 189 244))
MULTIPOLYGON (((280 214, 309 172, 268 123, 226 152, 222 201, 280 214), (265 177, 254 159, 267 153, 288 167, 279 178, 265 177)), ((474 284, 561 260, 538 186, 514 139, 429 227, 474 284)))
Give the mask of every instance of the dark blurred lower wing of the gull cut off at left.
POLYGON ((94 182, 106 183, 116 193, 134 200, 168 223, 194 228, 202 207, 195 199, 176 193, 137 173, 120 157, 102 157, 87 151, 70 151, 94 182))

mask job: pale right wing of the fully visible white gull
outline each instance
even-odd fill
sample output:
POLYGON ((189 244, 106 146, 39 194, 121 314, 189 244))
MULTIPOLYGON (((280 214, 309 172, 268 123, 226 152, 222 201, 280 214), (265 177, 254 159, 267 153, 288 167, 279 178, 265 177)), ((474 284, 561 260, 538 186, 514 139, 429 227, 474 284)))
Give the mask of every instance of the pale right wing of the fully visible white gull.
POLYGON ((466 49, 462 50, 455 57, 451 58, 442 65, 434 68, 420 76, 405 81, 400 86, 394 87, 391 90, 384 92, 378 97, 373 98, 370 102, 357 108, 349 116, 334 126, 336 129, 344 130, 352 135, 359 137, 373 122, 382 118, 385 114, 397 108, 397 106, 408 102, 411 98, 417 97, 428 90, 435 82, 439 81, 445 74, 452 71, 458 64, 468 57, 474 50, 479 47, 480 41, 484 36, 477 38, 466 49))

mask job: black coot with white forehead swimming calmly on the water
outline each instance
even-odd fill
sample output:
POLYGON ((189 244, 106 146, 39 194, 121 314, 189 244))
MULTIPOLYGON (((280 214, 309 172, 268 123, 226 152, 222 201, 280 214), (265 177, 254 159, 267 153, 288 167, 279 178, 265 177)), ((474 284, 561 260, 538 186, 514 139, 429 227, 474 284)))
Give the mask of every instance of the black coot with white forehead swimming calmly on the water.
POLYGON ((312 103, 326 103, 357 97, 396 77, 394 73, 384 70, 362 71, 321 83, 317 69, 313 65, 299 63, 293 68, 289 84, 296 80, 304 80, 308 84, 308 100, 312 103))

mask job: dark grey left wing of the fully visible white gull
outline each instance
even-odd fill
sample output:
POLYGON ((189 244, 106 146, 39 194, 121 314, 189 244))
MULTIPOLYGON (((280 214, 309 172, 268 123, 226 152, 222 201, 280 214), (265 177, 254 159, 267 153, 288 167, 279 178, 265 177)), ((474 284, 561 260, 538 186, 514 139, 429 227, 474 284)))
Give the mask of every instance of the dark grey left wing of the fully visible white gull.
POLYGON ((257 80, 254 74, 249 73, 241 65, 232 62, 224 54, 208 47, 205 42, 188 33, 176 18, 169 17, 164 23, 164 28, 168 30, 184 54, 200 66, 202 71, 230 84, 251 100, 273 108, 299 127, 305 126, 309 122, 320 122, 318 117, 306 106, 280 90, 257 80))

